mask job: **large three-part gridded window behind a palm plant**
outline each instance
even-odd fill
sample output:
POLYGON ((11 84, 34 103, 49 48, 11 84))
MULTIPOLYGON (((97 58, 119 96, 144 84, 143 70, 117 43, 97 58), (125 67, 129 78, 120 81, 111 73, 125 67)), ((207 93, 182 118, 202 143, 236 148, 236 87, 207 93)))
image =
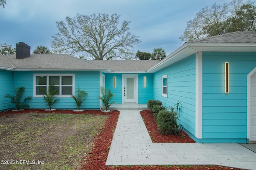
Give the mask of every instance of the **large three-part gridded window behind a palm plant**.
POLYGON ((74 94, 74 74, 34 74, 34 96, 40 97, 44 92, 40 87, 48 90, 48 86, 54 84, 54 90, 57 90, 57 97, 70 97, 74 94))

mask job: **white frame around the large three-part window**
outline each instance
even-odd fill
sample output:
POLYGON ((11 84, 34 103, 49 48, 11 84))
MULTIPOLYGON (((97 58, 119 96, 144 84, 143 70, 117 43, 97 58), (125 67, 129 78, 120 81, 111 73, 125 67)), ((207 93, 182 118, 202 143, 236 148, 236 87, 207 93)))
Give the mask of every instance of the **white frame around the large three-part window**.
MULTIPOLYGON (((43 98, 44 95, 36 95, 36 76, 47 76, 46 78, 46 87, 48 90, 49 87, 49 76, 60 76, 60 95, 56 95, 57 98, 71 98, 71 95, 62 95, 61 94, 61 76, 72 76, 72 94, 75 94, 75 74, 34 74, 33 78, 33 97, 34 98, 43 98)), ((65 86, 65 85, 63 85, 65 86)))

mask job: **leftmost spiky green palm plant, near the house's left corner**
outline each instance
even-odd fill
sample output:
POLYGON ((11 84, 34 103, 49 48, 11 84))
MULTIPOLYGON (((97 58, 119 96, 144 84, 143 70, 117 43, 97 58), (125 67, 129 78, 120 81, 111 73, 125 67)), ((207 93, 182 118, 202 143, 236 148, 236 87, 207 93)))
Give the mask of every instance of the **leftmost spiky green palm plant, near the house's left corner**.
POLYGON ((24 109, 24 108, 28 108, 29 105, 28 104, 24 104, 26 102, 26 100, 31 99, 31 96, 28 96, 26 98, 24 98, 23 102, 20 102, 23 93, 25 91, 25 87, 14 87, 14 95, 12 94, 8 94, 6 96, 4 96, 5 98, 10 98, 11 99, 11 103, 15 104, 15 106, 17 107, 18 110, 20 109, 24 109))

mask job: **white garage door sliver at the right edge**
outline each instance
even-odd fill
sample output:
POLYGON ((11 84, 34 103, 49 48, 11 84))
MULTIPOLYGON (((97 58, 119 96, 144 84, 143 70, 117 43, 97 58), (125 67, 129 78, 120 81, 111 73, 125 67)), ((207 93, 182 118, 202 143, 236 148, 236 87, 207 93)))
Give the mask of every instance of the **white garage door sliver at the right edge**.
POLYGON ((250 141, 256 141, 256 73, 251 76, 251 135, 250 141))

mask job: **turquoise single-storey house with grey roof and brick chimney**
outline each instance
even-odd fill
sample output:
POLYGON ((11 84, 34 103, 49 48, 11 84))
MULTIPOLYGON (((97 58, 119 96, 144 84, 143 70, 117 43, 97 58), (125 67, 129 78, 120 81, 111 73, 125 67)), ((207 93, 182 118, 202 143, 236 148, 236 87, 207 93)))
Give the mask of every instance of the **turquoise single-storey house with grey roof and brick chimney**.
POLYGON ((54 108, 74 109, 76 88, 88 93, 85 109, 100 109, 100 86, 118 104, 164 106, 181 103, 180 124, 197 143, 256 141, 256 32, 238 31, 188 41, 162 61, 84 61, 70 55, 0 56, 0 111, 10 109, 6 94, 26 87, 30 108, 47 108, 39 87, 56 84, 54 108))

